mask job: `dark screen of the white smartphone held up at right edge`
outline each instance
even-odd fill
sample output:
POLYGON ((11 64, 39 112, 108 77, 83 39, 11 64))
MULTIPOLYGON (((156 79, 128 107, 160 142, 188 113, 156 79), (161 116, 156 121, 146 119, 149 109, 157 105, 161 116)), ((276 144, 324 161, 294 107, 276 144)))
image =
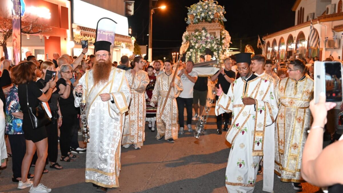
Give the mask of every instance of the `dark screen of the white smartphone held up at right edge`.
POLYGON ((325 63, 326 101, 342 101, 342 64, 339 62, 325 63))

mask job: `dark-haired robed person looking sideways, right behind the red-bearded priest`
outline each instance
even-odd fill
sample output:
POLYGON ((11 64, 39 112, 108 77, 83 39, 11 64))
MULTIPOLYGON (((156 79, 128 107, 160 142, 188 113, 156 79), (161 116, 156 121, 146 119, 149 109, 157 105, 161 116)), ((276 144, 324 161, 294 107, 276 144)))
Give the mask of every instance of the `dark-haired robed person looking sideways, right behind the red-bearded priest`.
POLYGON ((135 149, 140 149, 145 140, 145 88, 149 84, 148 73, 143 69, 144 61, 140 56, 134 57, 131 67, 127 70, 126 78, 131 91, 129 111, 125 115, 124 133, 121 145, 129 148, 131 144, 135 149))

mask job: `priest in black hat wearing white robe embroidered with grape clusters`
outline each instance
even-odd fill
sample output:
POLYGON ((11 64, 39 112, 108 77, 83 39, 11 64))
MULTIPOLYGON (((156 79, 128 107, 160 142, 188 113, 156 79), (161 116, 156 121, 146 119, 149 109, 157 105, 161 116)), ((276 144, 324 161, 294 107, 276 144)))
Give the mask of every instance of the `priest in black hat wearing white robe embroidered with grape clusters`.
MULTIPOLYGON (((274 96, 274 82, 262 79, 250 69, 251 54, 236 54, 237 71, 241 78, 231 84, 228 93, 217 90, 219 99, 215 114, 233 112, 232 125, 226 140, 232 144, 225 174, 225 185, 229 193, 253 192, 259 162, 273 158, 274 151, 264 148, 274 143, 274 131, 268 129, 277 115, 274 96)), ((263 175, 270 181, 263 185, 263 191, 273 192, 273 173, 263 175)))

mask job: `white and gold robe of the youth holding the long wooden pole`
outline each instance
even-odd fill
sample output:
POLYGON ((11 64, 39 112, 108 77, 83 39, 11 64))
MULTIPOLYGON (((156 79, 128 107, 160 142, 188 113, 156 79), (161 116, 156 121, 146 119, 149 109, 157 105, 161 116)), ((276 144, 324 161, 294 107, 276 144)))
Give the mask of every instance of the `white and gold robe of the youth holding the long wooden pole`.
POLYGON ((177 124, 178 110, 176 97, 178 97, 183 90, 182 83, 178 76, 175 76, 175 86, 170 90, 162 117, 159 118, 167 96, 170 82, 173 79, 173 73, 171 73, 169 76, 167 76, 166 73, 158 75, 156 78, 155 88, 152 92, 150 105, 153 106, 153 103, 158 104, 156 113, 157 139, 163 136, 165 140, 178 138, 179 128, 177 124))

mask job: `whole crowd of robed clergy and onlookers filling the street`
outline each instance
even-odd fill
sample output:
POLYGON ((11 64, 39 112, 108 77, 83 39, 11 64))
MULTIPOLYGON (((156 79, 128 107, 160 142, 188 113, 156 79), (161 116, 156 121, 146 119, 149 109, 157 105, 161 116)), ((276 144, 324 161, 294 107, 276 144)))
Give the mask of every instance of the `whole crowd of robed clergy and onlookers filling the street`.
MULTIPOLYGON (((315 141, 327 136, 334 142, 343 133, 339 125, 342 103, 325 103, 324 96, 320 103, 310 103, 313 65, 318 58, 278 61, 240 53, 225 58, 222 68, 209 77, 194 71, 191 60, 149 63, 140 56, 131 61, 122 56, 118 65, 110 60, 109 42, 94 45, 96 53, 89 56, 84 48, 78 57, 54 53, 46 61, 37 61, 27 52, 25 60, 15 66, 2 59, 0 134, 5 137, 0 139, 1 169, 7 166, 6 158, 12 157, 12 181, 18 189, 50 192, 40 183, 48 172, 46 166, 61 170, 58 161, 74 162, 84 152, 85 181, 98 192, 119 187, 121 147, 141 149, 146 123, 151 132, 157 131, 157 140, 169 143, 193 132, 192 120, 202 118, 212 90, 216 91, 216 133, 227 132, 225 138, 232 145, 225 174, 228 192, 253 192, 262 171, 267 192, 273 192, 274 173, 282 182, 291 182, 295 190, 302 190, 305 180, 319 186, 341 183, 338 177, 332 181, 314 177, 316 164, 323 164, 342 143, 322 151, 322 143, 315 141), (48 80, 50 71, 57 74, 48 80), (81 102, 86 103, 91 136, 87 148, 78 142, 81 102), (37 127, 30 113, 41 104, 47 105, 51 121, 37 127), (323 117, 331 124, 325 126, 323 117), (310 148, 317 148, 318 154, 311 154, 310 148), (35 167, 33 174, 28 173, 30 167, 35 167)), ((200 56, 199 60, 210 58, 200 56)))

